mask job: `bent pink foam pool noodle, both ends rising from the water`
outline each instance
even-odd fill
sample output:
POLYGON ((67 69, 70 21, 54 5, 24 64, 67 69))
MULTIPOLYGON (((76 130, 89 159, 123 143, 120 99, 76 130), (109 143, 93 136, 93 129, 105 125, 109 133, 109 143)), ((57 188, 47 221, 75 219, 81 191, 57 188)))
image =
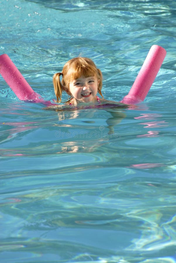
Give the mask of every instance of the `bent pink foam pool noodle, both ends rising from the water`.
MULTIPOLYGON (((158 45, 151 47, 130 92, 120 102, 137 104, 144 101, 165 56, 166 51, 163 47, 158 45)), ((43 103, 44 105, 58 105, 45 101, 39 94, 34 92, 7 54, 0 56, 0 73, 20 100, 43 103)))

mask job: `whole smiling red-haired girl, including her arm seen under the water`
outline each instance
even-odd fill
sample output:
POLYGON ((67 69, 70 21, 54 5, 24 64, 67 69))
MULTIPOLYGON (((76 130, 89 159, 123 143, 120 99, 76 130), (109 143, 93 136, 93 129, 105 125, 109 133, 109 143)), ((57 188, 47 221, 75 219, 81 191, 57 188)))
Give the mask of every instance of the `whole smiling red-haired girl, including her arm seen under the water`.
POLYGON ((103 98, 101 93, 101 70, 96 68, 94 62, 89 58, 77 57, 70 59, 64 65, 62 72, 54 74, 53 84, 57 102, 59 103, 61 102, 62 93, 65 91, 70 96, 68 101, 66 101, 67 105, 82 107, 82 105, 102 104, 102 106, 108 106, 108 108, 105 107, 103 109, 110 112, 112 116, 106 120, 110 133, 114 132, 113 127, 125 117, 125 114, 119 111, 120 108, 118 106, 127 107, 127 105, 115 101, 107 101, 103 98), (61 75, 62 80, 60 79, 61 75), (102 98, 99 98, 97 93, 102 98), (118 111, 111 107, 114 106, 114 103, 118 107, 118 111))

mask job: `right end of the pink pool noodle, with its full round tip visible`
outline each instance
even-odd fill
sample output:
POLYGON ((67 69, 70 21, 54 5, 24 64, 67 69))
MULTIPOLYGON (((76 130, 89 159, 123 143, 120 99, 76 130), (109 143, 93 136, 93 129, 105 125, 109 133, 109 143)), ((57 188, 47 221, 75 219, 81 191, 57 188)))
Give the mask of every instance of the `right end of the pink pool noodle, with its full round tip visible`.
POLYGON ((130 92, 120 102, 135 104, 145 99, 165 56, 166 51, 161 46, 153 45, 151 47, 130 92))

